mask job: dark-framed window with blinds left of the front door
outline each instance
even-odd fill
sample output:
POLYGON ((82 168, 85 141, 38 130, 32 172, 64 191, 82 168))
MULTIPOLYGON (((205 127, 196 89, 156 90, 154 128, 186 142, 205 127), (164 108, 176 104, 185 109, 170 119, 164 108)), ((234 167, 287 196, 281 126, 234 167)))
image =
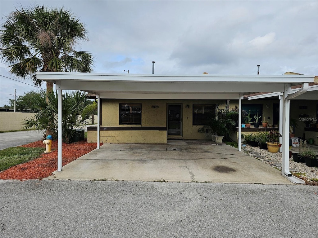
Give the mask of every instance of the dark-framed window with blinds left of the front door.
POLYGON ((119 124, 141 125, 141 104, 119 103, 119 124))

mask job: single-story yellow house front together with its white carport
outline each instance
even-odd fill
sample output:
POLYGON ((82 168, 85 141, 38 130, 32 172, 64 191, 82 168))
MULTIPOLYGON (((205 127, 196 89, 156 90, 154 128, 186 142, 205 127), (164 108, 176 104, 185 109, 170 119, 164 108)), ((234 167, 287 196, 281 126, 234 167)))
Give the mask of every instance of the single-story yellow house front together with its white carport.
MULTIPOLYGON (((37 78, 56 84, 58 91, 58 170, 61 154, 61 93, 82 90, 96 95, 98 122, 89 141, 112 143, 167 143, 169 137, 203 139, 198 124, 215 109, 216 104, 238 100, 242 108, 244 95, 255 92, 283 93, 283 170, 288 169, 289 102, 308 89, 315 76, 308 75, 157 75, 37 72, 37 78), (291 87, 302 89, 289 94, 291 87), (95 139, 93 139, 95 138, 95 139)), ((225 105, 225 104, 224 104, 225 105)), ((241 124, 241 110, 239 110, 241 124)), ((239 127, 239 134, 241 128, 239 127)), ((240 150, 239 137, 239 150, 240 150)))

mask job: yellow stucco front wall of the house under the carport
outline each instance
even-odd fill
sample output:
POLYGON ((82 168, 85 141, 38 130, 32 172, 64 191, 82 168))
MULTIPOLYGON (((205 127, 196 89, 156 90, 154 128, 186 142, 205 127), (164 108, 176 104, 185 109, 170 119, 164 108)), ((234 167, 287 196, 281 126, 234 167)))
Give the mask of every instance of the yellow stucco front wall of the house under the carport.
MULTIPOLYGON (((225 100, 120 100, 102 99, 101 126, 102 127, 166 127, 167 104, 181 103, 183 110, 182 137, 184 139, 207 139, 206 133, 198 132, 200 126, 192 125, 192 104, 220 103, 219 108, 225 106, 225 100), (119 103, 141 103, 142 125, 119 125, 119 103), (152 108, 152 105, 159 108, 152 108), (186 106, 189 105, 189 108, 186 106)), ((97 132, 88 131, 88 142, 97 142, 97 132)), ((128 131, 100 131, 100 140, 104 143, 166 143, 167 131, 158 130, 128 130, 128 131)))

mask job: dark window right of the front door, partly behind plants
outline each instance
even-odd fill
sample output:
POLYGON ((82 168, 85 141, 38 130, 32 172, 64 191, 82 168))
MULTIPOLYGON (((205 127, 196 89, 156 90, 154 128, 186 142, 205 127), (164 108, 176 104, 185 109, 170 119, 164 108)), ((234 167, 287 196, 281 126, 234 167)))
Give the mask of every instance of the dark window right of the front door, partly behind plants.
POLYGON ((215 104, 193 104, 192 125, 204 125, 208 118, 215 118, 215 104))

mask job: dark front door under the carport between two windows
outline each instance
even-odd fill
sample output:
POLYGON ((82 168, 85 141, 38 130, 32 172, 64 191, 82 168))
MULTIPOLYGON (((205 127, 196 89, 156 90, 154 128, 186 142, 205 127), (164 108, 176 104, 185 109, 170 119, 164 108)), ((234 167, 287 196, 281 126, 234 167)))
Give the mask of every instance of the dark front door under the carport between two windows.
POLYGON ((167 104, 167 134, 182 136, 182 104, 167 104))

